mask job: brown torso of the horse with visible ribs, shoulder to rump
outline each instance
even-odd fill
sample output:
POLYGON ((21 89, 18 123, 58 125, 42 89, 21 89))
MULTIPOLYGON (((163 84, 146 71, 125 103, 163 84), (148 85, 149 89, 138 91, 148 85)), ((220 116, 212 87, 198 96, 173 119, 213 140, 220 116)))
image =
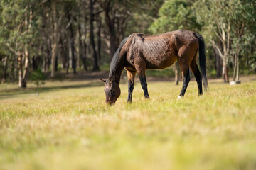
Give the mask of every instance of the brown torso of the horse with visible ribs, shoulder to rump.
POLYGON ((159 35, 133 33, 129 36, 132 46, 127 60, 132 62, 134 57, 143 57, 146 69, 164 69, 174 64, 183 53, 195 51, 191 46, 198 45, 198 40, 193 34, 190 30, 174 30, 159 35))

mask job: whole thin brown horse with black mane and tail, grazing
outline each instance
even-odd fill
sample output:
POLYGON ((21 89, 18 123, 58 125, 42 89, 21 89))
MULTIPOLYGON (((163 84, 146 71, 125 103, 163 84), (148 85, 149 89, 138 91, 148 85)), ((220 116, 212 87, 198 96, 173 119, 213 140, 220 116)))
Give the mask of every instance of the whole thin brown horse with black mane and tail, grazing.
POLYGON ((119 81, 123 69, 127 70, 128 99, 132 102, 135 74, 139 74, 145 98, 149 98, 146 84, 146 69, 164 69, 170 67, 176 61, 181 68, 183 86, 178 98, 184 96, 190 81, 189 68, 196 77, 198 95, 208 89, 206 77, 206 55, 203 37, 190 30, 175 30, 159 35, 145 35, 133 33, 122 40, 110 63, 110 74, 105 83, 106 103, 112 105, 120 96, 119 81), (196 64, 199 49, 199 61, 201 73, 196 64))

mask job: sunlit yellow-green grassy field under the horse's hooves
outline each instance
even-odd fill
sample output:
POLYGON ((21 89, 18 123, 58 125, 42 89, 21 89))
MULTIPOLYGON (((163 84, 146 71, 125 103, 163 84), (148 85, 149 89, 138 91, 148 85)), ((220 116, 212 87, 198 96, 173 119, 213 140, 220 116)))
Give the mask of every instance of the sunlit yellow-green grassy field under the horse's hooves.
POLYGON ((256 169, 256 81, 136 82, 106 106, 100 81, 0 86, 0 169, 256 169))

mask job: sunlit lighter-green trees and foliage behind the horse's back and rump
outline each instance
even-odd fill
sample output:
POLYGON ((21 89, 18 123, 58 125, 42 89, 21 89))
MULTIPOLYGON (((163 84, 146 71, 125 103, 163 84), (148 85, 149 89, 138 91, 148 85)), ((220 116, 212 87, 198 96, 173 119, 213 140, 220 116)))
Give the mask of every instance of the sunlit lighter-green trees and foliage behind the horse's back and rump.
MULTIPOLYGON (((177 29, 196 31, 206 41, 208 68, 217 68, 217 55, 222 58, 224 68, 234 63, 233 57, 239 55, 240 67, 254 68, 255 9, 255 1, 250 0, 169 0, 159 9, 159 17, 149 31, 154 34, 177 29)), ((228 76, 228 69, 225 72, 228 76)))

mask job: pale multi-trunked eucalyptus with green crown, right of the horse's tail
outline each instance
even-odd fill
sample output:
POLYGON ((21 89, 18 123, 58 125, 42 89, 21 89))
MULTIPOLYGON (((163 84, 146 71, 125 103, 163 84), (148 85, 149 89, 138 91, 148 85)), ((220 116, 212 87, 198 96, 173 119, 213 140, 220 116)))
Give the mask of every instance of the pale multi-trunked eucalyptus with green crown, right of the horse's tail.
MULTIPOLYGON (((228 62, 234 55, 238 72, 238 56, 245 45, 243 35, 255 22, 255 1, 203 0, 194 4, 197 21, 203 23, 204 35, 223 60, 223 81, 228 79, 228 62)), ((250 30, 247 33, 252 33, 250 30)), ((238 79, 238 73, 237 73, 238 79)))

